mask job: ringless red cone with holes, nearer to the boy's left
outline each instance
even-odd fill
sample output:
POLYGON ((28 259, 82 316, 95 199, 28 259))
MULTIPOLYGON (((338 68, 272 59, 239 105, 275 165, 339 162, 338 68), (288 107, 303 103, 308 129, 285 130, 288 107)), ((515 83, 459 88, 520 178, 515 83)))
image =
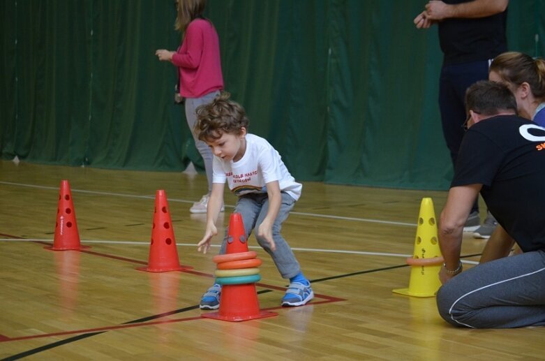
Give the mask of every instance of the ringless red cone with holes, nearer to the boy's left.
POLYGON ((148 265, 147 267, 138 267, 137 270, 168 272, 191 270, 191 268, 193 267, 180 265, 167 196, 165 191, 159 190, 155 196, 154 224, 151 230, 148 265))

